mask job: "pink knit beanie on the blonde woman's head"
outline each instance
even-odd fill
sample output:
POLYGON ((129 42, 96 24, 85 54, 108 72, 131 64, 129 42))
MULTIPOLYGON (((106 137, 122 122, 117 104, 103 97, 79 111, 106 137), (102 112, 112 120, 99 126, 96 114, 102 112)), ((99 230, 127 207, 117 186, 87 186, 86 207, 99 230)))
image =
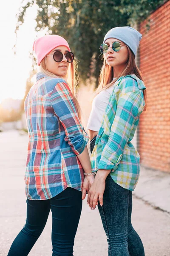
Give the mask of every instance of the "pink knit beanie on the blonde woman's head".
POLYGON ((37 56, 38 66, 40 66, 42 59, 58 46, 65 46, 71 51, 68 42, 59 35, 45 35, 36 39, 33 44, 33 50, 37 56))

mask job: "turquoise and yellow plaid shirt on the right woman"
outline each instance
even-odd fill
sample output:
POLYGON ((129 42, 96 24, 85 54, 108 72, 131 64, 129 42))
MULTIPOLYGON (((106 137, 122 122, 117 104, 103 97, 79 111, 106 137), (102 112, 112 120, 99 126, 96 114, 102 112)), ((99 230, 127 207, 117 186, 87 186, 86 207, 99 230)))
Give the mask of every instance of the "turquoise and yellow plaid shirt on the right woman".
POLYGON ((134 190, 139 178, 139 153, 133 139, 144 109, 144 82, 135 75, 116 81, 91 154, 92 171, 111 169, 113 180, 134 190))

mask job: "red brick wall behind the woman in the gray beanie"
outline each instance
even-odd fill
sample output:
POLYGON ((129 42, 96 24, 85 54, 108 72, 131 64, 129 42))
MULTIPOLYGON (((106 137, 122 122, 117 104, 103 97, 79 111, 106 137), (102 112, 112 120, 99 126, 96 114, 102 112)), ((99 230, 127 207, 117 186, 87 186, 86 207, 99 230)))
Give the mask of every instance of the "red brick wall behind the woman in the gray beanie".
POLYGON ((140 70, 147 111, 139 123, 139 153, 145 167, 170 172, 170 1, 140 24, 140 70))

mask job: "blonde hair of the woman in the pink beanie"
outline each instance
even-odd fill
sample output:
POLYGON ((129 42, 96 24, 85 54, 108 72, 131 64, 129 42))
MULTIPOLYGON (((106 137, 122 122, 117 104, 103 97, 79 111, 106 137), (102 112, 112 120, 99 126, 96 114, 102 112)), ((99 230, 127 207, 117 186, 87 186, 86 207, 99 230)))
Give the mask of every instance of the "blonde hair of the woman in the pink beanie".
MULTIPOLYGON (((73 95, 73 101, 74 101, 74 104, 76 107, 76 111, 78 113, 79 119, 81 120, 81 110, 80 110, 79 102, 76 98, 77 84, 79 82, 79 75, 77 72, 77 67, 78 67, 77 62, 78 62, 77 59, 74 58, 74 61, 68 65, 68 71, 67 71, 65 80, 67 81, 67 84, 71 90, 71 93, 73 95)), ((42 59, 42 61, 40 62, 40 71, 47 76, 51 76, 54 78, 61 78, 60 76, 57 76, 54 73, 51 73, 50 71, 48 71, 46 63, 47 63, 47 61, 46 61, 46 56, 45 56, 42 59)))

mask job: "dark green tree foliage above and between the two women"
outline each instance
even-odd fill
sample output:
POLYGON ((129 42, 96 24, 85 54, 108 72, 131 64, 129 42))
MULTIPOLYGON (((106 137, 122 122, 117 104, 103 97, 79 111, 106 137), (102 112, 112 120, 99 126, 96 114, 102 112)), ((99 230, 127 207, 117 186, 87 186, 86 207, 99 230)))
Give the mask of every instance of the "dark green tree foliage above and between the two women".
MULTIPOLYGON (((102 64, 99 46, 109 29, 145 19, 160 0, 23 0, 19 26, 28 7, 37 5, 36 30, 63 36, 79 60, 81 79, 98 77, 102 64)), ((16 29, 16 32, 17 32, 16 29)))

